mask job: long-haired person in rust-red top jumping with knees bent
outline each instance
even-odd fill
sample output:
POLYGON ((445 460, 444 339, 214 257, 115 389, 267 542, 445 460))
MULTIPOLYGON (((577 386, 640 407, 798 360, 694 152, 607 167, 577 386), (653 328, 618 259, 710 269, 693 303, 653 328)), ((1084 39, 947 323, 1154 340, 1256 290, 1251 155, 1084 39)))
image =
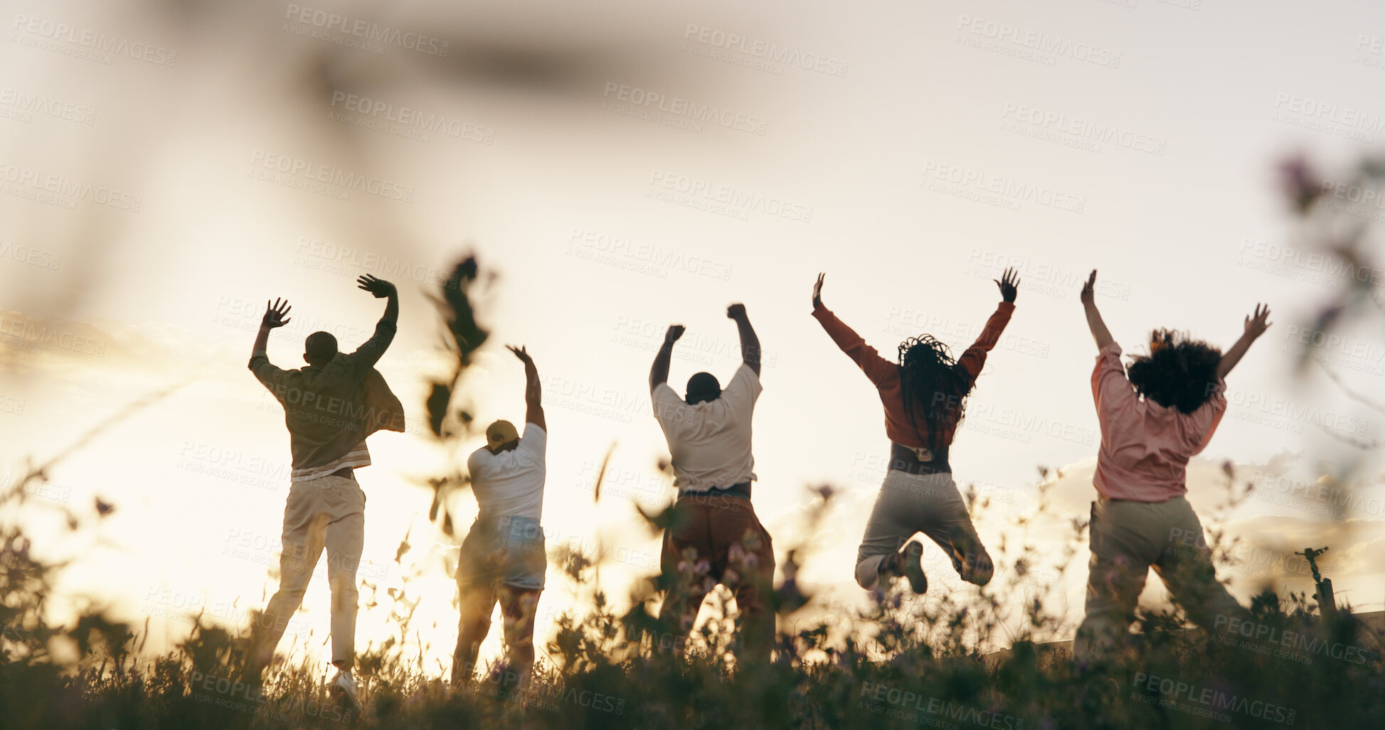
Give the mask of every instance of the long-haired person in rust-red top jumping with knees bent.
POLYGON ((879 391, 891 440, 889 471, 856 551, 856 583, 874 590, 881 578, 904 576, 914 593, 927 591, 924 546, 913 539, 922 532, 951 557, 963 580, 985 586, 994 567, 953 482, 947 452, 986 353, 1000 341, 1015 310, 1015 271, 1007 269, 996 281, 1003 301, 976 342, 956 362, 947 345, 927 334, 902 342, 897 363, 881 357, 823 306, 824 278, 819 274, 813 285, 813 316, 879 391))

